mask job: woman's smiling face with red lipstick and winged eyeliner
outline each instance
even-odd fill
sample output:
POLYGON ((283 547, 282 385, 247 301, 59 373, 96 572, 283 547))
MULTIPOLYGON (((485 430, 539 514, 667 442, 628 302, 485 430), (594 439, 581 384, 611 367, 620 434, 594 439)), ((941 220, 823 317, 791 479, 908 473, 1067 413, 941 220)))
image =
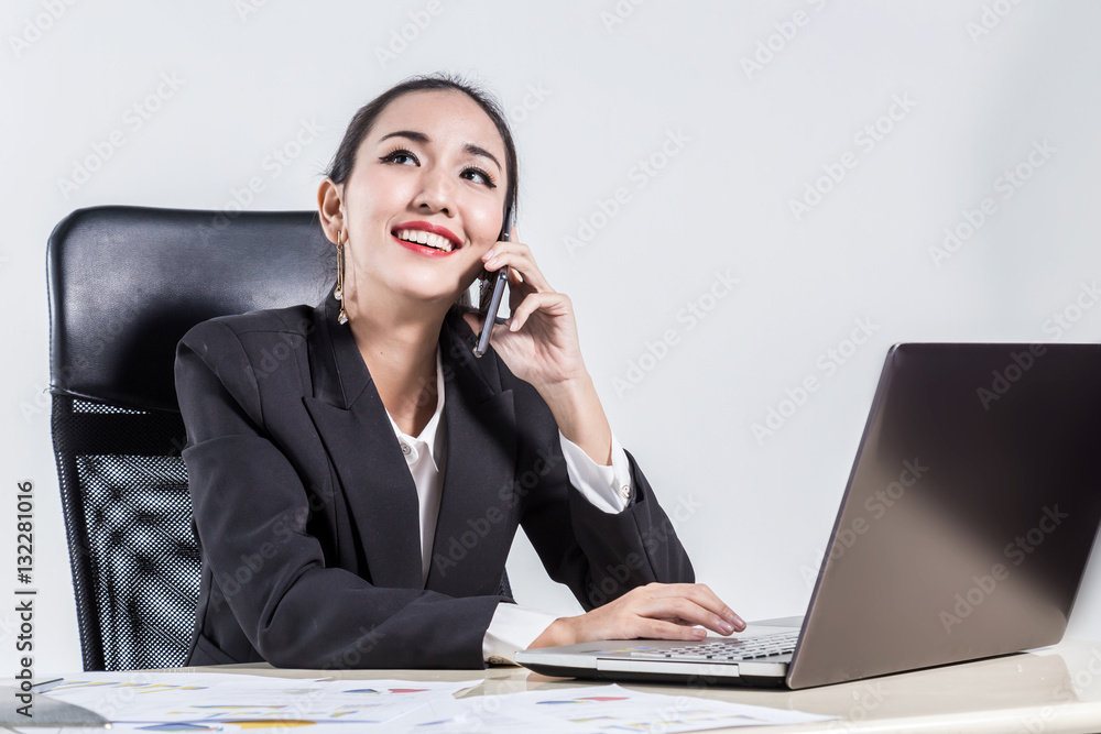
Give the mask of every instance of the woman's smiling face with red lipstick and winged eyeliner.
POLYGON ((344 186, 349 295, 454 303, 501 232, 505 166, 501 134, 465 94, 416 91, 392 101, 344 186))

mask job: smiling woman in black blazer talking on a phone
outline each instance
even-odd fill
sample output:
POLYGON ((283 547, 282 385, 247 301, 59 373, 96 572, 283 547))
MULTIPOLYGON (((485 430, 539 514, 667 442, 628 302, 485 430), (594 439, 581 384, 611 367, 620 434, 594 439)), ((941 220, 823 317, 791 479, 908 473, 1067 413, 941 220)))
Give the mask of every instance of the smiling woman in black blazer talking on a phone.
POLYGON ((181 340, 203 554, 189 665, 480 668, 743 628, 693 583, 612 434, 569 298, 515 227, 503 239, 517 180, 492 99, 447 76, 403 81, 356 113, 318 188, 337 263, 325 300, 181 340), (465 294, 504 266, 512 316, 476 359, 483 317, 465 294), (275 344, 292 357, 258 380, 275 344), (520 527, 585 614, 501 593, 520 527))

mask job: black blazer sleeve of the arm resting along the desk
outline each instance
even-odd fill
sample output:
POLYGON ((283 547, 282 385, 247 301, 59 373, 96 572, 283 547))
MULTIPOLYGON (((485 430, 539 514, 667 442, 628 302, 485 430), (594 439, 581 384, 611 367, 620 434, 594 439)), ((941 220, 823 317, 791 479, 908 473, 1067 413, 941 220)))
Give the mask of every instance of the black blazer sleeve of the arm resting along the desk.
POLYGON ((237 574, 226 602, 265 660, 305 668, 484 667, 482 640, 504 598, 380 588, 326 568, 320 543, 307 532, 302 479, 264 428, 255 374, 228 325, 206 321, 184 336, 175 381, 203 562, 215 579, 237 574))

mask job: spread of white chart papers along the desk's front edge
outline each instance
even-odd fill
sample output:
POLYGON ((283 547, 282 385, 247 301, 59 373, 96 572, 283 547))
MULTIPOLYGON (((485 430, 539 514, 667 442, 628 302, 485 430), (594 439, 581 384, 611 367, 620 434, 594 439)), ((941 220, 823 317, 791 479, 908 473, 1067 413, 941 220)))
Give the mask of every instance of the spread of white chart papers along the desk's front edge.
MULTIPOLYGON (((693 695, 645 693, 617 684, 455 698, 458 691, 483 682, 84 672, 43 695, 95 711, 111 721, 112 732, 285 733, 294 727, 325 734, 675 734, 831 719, 693 695)), ((66 734, 76 731, 65 730, 66 734)))

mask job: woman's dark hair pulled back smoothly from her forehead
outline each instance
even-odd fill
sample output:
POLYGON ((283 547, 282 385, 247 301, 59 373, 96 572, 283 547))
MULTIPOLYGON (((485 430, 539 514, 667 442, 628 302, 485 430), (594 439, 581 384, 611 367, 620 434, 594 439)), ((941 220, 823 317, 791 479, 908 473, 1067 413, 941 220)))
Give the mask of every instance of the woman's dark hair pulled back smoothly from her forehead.
MULTIPOLYGON (((504 112, 501 110, 501 106, 497 99, 489 92, 479 89, 457 75, 437 72, 436 74, 410 77, 399 84, 395 84, 393 87, 386 89, 367 105, 359 108, 359 110, 356 111, 356 114, 352 116, 351 122, 348 123, 348 130, 345 131, 344 140, 340 141, 340 145, 337 147, 337 152, 333 156, 333 161, 329 163, 328 171, 325 175, 337 184, 342 184, 348 180, 352 169, 356 167, 356 152, 359 150, 363 139, 371 132, 371 128, 374 127, 374 121, 378 120, 379 114, 386 109, 390 102, 410 92, 432 90, 461 91, 470 99, 478 102, 478 106, 481 107, 486 114, 489 116, 489 119, 493 121, 493 124, 497 127, 497 131, 501 133, 501 140, 504 141, 505 173, 509 177, 508 189, 504 195, 504 211, 502 211, 502 215, 504 215, 504 219, 502 221, 506 222, 509 219, 508 212, 515 208, 516 198, 520 193, 516 146, 512 140, 512 131, 509 129, 509 122, 505 119, 504 112)), ((504 233, 503 229, 501 233, 504 233)), ((336 265, 334 265, 333 274, 335 277, 336 265)), ((487 288, 482 288, 482 292, 484 299, 487 288)), ((459 297, 458 305, 462 307, 470 306, 466 293, 459 297)))

